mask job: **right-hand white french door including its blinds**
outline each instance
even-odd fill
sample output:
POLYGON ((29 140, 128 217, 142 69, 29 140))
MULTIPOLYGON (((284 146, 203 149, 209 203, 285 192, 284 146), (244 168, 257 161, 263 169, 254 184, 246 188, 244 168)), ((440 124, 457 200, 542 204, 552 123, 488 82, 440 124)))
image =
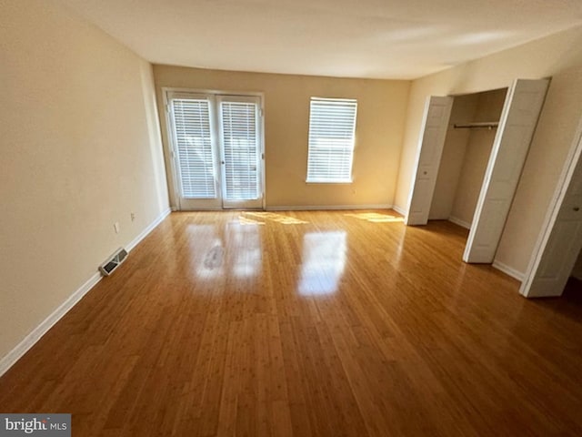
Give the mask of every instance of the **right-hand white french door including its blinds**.
POLYGON ((259 97, 219 96, 224 208, 263 206, 261 106, 259 97))

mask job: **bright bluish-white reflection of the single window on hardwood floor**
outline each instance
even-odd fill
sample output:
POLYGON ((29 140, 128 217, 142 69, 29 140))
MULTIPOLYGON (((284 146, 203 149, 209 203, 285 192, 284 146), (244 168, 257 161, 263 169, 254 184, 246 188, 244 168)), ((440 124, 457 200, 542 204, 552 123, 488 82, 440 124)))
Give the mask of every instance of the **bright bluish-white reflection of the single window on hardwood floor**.
POLYGON ((309 232, 303 237, 299 293, 334 293, 346 266, 346 231, 309 232))

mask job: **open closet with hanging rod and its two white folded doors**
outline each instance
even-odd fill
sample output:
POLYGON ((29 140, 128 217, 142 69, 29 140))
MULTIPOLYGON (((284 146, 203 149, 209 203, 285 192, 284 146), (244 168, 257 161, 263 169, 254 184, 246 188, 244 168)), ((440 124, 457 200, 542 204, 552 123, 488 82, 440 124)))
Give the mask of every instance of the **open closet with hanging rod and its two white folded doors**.
POLYGON ((516 79, 494 91, 427 97, 406 225, 455 221, 469 228, 463 260, 493 263, 548 85, 516 79))

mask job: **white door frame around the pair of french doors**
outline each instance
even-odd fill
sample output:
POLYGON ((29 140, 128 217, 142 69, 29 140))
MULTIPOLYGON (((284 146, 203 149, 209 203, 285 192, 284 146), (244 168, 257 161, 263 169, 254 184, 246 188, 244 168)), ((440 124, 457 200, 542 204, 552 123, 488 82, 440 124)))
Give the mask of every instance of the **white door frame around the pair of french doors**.
MULTIPOLYGON (((260 133, 259 133, 259 140, 260 144, 260 154, 261 154, 261 190, 263 192, 263 200, 261 204, 261 208, 263 210, 266 209, 266 171, 265 171, 265 93, 260 91, 233 91, 233 90, 226 90, 226 89, 205 89, 205 88, 187 88, 187 87, 176 87, 176 86, 162 86, 162 103, 163 103, 163 110, 164 110, 164 121, 166 123, 166 141, 164 141, 164 158, 166 160, 166 168, 167 163, 169 162, 170 168, 170 180, 168 183, 172 187, 172 195, 170 196, 170 201, 172 203, 173 210, 180 210, 180 186, 178 180, 176 180, 177 176, 177 168, 176 168, 176 152, 174 147, 174 139, 172 134, 172 120, 170 115, 170 101, 168 95, 170 93, 185 93, 185 94, 192 94, 192 95, 206 95, 212 96, 213 99, 216 99, 217 96, 236 96, 236 97, 258 97, 260 102, 260 133)), ((214 122, 212 122, 214 123, 214 122)), ((216 127, 217 129, 217 127, 216 127)), ((216 130, 215 129, 215 130, 216 130)), ((222 169, 221 169, 222 171, 222 169)), ((222 183, 221 183, 222 185, 222 183)), ((222 189, 222 188, 221 188, 222 189)), ((222 194, 221 194, 222 196, 222 194)), ((224 210, 225 208, 222 207, 222 198, 221 198, 221 206, 217 208, 201 208, 200 210, 224 210)), ((255 208, 256 209, 256 208, 255 208)))

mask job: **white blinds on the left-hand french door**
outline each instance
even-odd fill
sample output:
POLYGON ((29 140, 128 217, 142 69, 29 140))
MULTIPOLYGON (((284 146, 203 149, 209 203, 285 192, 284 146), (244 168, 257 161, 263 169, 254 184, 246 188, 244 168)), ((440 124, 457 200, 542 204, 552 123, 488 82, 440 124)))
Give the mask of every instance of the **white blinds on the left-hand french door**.
POLYGON ((216 198, 208 100, 175 98, 172 113, 182 197, 216 198))

